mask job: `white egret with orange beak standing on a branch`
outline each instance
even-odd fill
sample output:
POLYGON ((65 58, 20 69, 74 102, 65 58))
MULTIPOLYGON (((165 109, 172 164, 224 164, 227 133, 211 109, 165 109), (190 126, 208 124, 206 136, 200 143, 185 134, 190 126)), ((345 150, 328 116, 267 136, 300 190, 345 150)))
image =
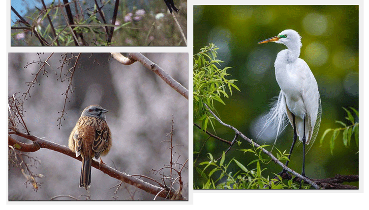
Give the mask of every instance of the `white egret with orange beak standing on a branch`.
MULTIPOLYGON (((305 145, 312 145, 320 126, 321 103, 318 84, 307 63, 299 58, 301 36, 295 30, 287 29, 277 36, 263 40, 258 44, 275 42, 287 46, 277 54, 274 66, 276 79, 280 87, 277 101, 267 115, 267 125, 273 125, 278 134, 284 130, 288 121, 294 131, 292 146, 288 155, 290 159, 297 136, 303 142, 303 171, 305 176, 305 145)), ((276 137, 277 140, 277 137, 276 137)), ((286 161, 288 165, 288 160, 286 161)), ((285 172, 284 170, 281 172, 285 172)), ((300 183, 301 184, 301 183, 300 183)), ((301 185, 300 185, 301 187, 301 185)))

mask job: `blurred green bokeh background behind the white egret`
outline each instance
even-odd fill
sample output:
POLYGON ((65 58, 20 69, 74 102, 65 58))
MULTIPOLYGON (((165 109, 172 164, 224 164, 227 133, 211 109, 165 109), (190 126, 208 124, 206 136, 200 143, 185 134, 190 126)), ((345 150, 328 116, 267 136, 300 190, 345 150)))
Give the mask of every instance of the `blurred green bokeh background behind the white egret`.
MULTIPOLYGON (((359 173, 358 147, 353 138, 350 146, 345 147, 340 132, 333 155, 330 152, 332 133, 325 137, 322 146, 319 143, 326 129, 341 127, 336 120, 350 124, 344 119, 347 115, 342 106, 359 110, 357 5, 194 5, 193 19, 193 53, 198 53, 200 48, 210 42, 215 43, 220 48, 217 58, 225 61, 222 67, 234 67, 228 70, 231 74, 228 79, 237 79, 236 85, 241 90, 232 91, 233 95, 224 99, 226 105, 215 106, 218 116, 224 123, 234 126, 259 144, 273 145, 274 140, 265 142, 265 139, 256 139, 256 136, 260 131, 260 118, 269 111, 271 99, 280 91, 275 78, 274 61, 277 53, 286 47, 276 43, 257 43, 278 35, 284 29, 298 31, 303 44, 300 57, 314 74, 322 101, 322 121, 317 139, 306 156, 306 175, 309 178, 329 178, 336 174, 359 173)), ((355 120, 358 121, 357 116, 355 120)), ((233 131, 217 122, 215 130, 217 136, 226 140, 231 141, 234 137, 233 131)), ((199 151, 208 136, 196 127, 193 136, 194 151, 199 151)), ((293 129, 288 125, 278 137, 276 147, 288 153, 292 138, 293 129)), ((207 153, 217 158, 227 148, 228 145, 213 138, 208 140, 195 167, 208 160, 207 153)), ((238 150, 248 148, 250 145, 246 141, 242 141, 240 146, 234 145, 226 155, 226 162, 235 157, 246 166, 254 157, 238 150)), ((295 146, 288 165, 299 173, 302 170, 302 148, 302 144, 295 146)), ((276 154, 276 150, 273 153, 276 154)), ((194 159, 196 157, 197 154, 194 159)), ((251 164, 247 168, 255 168, 255 165, 251 164)), ((262 172, 265 177, 281 171, 280 166, 274 163, 266 167, 268 170, 262 172)), ((239 168, 232 163, 229 171, 232 170, 234 174, 239 168)), ((195 169, 194 186, 201 188, 203 183, 204 180, 195 169)))

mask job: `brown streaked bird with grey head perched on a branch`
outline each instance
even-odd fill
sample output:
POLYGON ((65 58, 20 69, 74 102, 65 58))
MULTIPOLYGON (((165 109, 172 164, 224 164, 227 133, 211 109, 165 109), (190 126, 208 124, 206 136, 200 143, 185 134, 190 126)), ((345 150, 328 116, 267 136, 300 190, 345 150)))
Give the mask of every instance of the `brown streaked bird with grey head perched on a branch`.
POLYGON ((88 189, 91 185, 92 158, 108 154, 112 146, 112 134, 105 120, 108 110, 99 105, 90 105, 83 110, 76 126, 69 136, 69 148, 82 157, 79 187, 88 189))

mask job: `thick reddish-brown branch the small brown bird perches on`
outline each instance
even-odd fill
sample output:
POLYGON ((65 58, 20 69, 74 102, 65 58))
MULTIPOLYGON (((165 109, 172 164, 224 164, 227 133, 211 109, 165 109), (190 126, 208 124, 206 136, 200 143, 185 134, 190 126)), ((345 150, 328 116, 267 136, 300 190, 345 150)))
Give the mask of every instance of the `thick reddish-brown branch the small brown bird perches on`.
MULTIPOLYGON (((26 133, 23 132, 19 132, 19 131, 13 131, 11 132, 11 134, 15 134, 17 136, 21 136, 24 138, 27 138, 29 140, 32 141, 31 144, 26 144, 26 143, 22 143, 19 142, 17 140, 15 140, 13 137, 11 137, 10 135, 8 136, 8 144, 10 146, 13 146, 15 149, 22 151, 22 152, 35 152, 37 150, 39 150, 40 148, 46 148, 49 150, 54 150, 57 152, 60 152, 64 155, 73 157, 75 159, 78 159, 80 161, 82 161, 81 156, 76 157, 75 153, 73 153, 68 147, 38 138, 34 135, 28 135, 26 133)), ((176 192, 177 190, 174 189, 169 189, 168 187, 166 188, 162 188, 162 187, 158 187, 155 186, 153 184, 144 182, 142 180, 139 180, 137 178, 134 178, 130 175, 127 175, 123 172, 120 172, 110 166, 108 166, 107 164, 100 164, 100 162, 92 160, 92 167, 104 172, 105 174, 109 175, 110 177, 116 178, 118 180, 121 180, 127 184, 131 184, 137 188, 140 188, 148 193, 163 197, 163 198, 176 198, 178 200, 185 200, 185 198, 182 195, 178 195, 176 192)))

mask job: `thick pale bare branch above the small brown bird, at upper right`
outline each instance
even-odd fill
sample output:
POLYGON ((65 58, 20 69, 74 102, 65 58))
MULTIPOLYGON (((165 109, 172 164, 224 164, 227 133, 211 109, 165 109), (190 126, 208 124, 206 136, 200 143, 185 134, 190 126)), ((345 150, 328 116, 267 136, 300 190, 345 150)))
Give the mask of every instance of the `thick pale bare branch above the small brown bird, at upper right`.
POLYGON ((188 90, 180 84, 178 81, 173 79, 170 75, 168 75, 162 68, 153 63, 153 61, 149 60, 141 53, 129 53, 128 58, 123 56, 121 53, 111 53, 114 59, 122 63, 123 65, 130 65, 135 61, 142 63, 146 68, 153 71, 156 75, 158 75, 161 79, 163 79, 169 86, 171 86, 174 90, 180 93, 184 98, 188 100, 188 90))

